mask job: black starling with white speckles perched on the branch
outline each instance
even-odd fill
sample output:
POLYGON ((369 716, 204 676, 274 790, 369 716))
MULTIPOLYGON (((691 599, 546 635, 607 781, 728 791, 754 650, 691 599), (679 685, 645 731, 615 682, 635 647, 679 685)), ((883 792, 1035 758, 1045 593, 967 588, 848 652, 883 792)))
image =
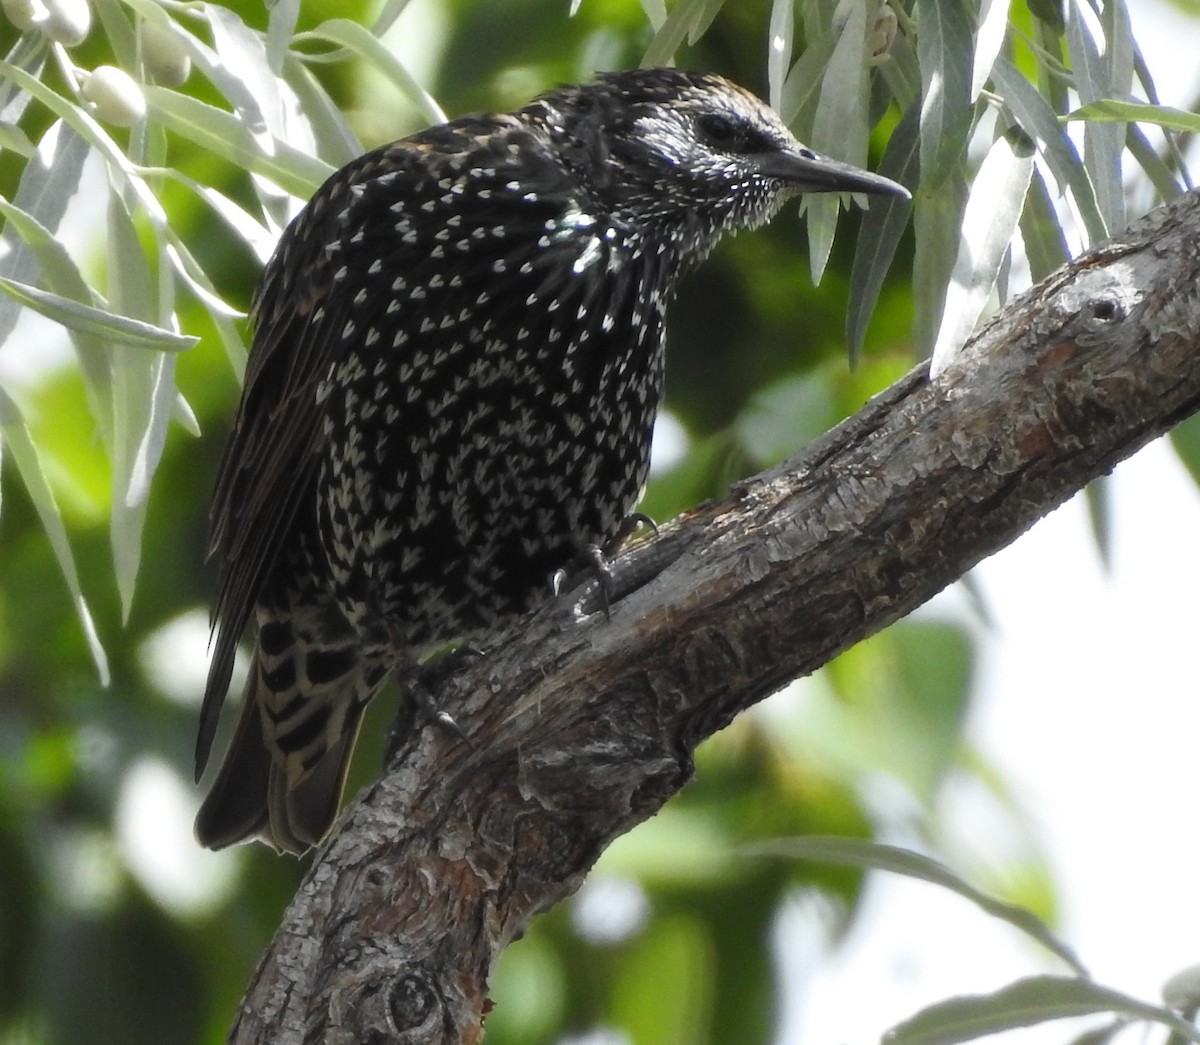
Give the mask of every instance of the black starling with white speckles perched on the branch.
POLYGON ((211 503, 197 781, 251 625, 254 648, 203 846, 319 845, 385 679, 623 533, 680 277, 803 192, 908 196, 674 68, 462 116, 325 181, 256 289, 211 503))

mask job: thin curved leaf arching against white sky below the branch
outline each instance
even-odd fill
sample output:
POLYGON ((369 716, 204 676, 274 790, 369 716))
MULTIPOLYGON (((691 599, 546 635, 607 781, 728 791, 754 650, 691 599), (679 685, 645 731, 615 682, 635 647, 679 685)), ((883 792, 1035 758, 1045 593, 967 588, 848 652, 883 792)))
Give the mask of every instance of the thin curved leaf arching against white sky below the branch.
POLYGON ((941 885, 952 893, 958 893, 974 903, 986 914, 1007 921, 1014 929, 1036 939, 1046 950, 1061 959, 1080 977, 1087 975, 1087 969, 1063 941, 1058 939, 1050 927, 1032 911, 1008 903, 995 896, 976 889, 974 885, 960 878, 946 864, 931 857, 924 857, 911 849, 898 846, 884 846, 868 842, 863 839, 810 835, 805 837, 778 839, 748 846, 743 849, 751 855, 786 857, 799 860, 818 860, 824 864, 839 864, 850 867, 866 867, 876 871, 892 871, 907 878, 917 878, 941 885))

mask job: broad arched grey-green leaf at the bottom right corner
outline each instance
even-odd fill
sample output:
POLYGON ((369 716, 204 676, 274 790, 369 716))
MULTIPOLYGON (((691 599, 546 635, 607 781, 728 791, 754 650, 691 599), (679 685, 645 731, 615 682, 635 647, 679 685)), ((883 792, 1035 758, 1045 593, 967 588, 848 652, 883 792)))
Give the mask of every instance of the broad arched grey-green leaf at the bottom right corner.
POLYGON ((1108 1013, 1160 1023, 1186 1041, 1200 1043, 1200 1032, 1169 1009, 1069 977, 1030 977, 991 995, 947 998, 898 1023, 883 1035, 883 1041, 886 1045, 953 1045, 1050 1020, 1108 1013))

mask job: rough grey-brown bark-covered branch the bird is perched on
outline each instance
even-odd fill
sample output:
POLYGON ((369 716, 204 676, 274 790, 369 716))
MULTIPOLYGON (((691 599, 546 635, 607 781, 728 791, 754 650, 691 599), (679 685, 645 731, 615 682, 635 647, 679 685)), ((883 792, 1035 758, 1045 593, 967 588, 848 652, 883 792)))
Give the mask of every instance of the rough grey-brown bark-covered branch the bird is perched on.
POLYGON ((470 744, 408 733, 353 804, 230 1040, 481 1041, 497 955, 702 739, 1200 408, 1198 275, 1189 193, 623 557, 611 619, 590 593, 512 629, 438 693, 470 744))

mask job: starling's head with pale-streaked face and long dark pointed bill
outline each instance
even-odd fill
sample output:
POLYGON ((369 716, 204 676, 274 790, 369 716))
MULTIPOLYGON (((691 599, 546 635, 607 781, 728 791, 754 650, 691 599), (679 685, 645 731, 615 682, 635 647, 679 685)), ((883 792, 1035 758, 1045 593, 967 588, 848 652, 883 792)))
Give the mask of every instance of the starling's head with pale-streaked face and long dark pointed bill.
POLYGON ((904 186, 800 144, 728 80, 673 68, 601 73, 535 106, 581 180, 616 218, 679 224, 700 250, 769 218, 802 192, 907 198, 904 186))

